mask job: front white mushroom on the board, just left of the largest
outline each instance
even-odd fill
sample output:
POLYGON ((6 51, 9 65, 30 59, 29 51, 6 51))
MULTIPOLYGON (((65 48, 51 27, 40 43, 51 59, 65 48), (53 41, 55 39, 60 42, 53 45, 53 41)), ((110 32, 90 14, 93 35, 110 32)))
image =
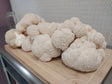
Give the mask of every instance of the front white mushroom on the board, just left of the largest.
POLYGON ((61 54, 61 51, 52 45, 51 38, 47 34, 38 35, 33 41, 31 50, 41 61, 50 61, 61 54))

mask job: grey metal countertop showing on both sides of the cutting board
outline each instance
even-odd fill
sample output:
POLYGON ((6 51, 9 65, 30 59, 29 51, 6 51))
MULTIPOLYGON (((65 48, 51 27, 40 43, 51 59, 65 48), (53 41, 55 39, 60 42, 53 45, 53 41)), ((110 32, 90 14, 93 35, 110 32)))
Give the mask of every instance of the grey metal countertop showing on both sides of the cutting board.
MULTIPOLYGON (((107 46, 108 48, 112 48, 107 46)), ((39 80, 33 73, 31 73, 25 66, 23 66, 18 60, 13 58, 9 53, 6 52, 4 48, 0 49, 0 53, 4 56, 6 60, 10 62, 12 67, 19 73, 21 76, 27 80, 30 84, 43 84, 41 80, 39 80)), ((105 77, 102 84, 111 84, 112 83, 112 69, 110 70, 109 74, 105 77)))

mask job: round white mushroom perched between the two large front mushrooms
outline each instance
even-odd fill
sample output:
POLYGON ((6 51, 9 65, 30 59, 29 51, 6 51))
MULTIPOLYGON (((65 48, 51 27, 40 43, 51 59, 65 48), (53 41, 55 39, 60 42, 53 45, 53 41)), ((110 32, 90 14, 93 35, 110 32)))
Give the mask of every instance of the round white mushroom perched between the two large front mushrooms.
POLYGON ((61 30, 56 30, 53 33, 51 39, 53 45, 56 48, 59 48, 64 51, 69 47, 70 43, 75 39, 75 36, 70 29, 61 29, 61 30))

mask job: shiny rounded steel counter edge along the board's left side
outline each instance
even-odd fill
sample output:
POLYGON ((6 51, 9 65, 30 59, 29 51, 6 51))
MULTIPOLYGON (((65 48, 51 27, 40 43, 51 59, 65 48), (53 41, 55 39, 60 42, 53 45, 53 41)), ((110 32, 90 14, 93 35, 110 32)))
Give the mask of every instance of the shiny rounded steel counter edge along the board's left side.
POLYGON ((35 77, 26 67, 13 58, 5 49, 0 50, 0 56, 6 60, 29 84, 44 84, 39 78, 35 77))

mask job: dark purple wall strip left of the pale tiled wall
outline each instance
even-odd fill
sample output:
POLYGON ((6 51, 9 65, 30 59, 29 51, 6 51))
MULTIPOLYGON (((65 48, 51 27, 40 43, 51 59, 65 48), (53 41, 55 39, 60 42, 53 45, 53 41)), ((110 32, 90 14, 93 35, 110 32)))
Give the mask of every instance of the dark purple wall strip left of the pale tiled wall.
POLYGON ((4 34, 8 30, 6 13, 11 11, 9 0, 0 0, 0 47, 5 44, 4 34))

